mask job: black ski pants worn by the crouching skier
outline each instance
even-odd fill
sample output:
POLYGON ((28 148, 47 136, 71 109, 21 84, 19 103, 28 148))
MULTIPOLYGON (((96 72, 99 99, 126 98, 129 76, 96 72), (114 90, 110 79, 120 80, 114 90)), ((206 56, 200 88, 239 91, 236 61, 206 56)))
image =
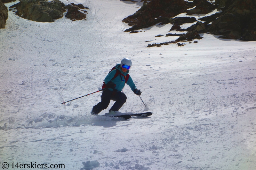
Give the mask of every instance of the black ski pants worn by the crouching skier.
POLYGON ((114 105, 109 109, 118 111, 126 102, 126 95, 122 92, 104 90, 101 95, 101 102, 92 107, 92 114, 99 114, 102 110, 107 109, 110 100, 116 101, 114 105))

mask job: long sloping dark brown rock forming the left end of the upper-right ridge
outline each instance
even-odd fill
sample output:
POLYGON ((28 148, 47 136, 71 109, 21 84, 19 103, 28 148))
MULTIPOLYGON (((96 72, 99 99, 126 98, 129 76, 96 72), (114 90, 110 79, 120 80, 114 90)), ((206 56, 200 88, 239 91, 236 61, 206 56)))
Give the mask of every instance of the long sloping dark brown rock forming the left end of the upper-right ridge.
POLYGON ((147 28, 157 23, 168 24, 172 20, 170 18, 184 13, 190 6, 184 0, 145 0, 136 13, 122 20, 132 26, 125 32, 147 28))

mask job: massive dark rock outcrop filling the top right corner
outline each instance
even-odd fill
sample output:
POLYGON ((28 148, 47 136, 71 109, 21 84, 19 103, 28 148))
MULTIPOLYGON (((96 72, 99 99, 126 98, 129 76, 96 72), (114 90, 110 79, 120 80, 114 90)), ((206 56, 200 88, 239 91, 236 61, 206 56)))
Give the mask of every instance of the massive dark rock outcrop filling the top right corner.
POLYGON ((212 21, 208 27, 209 32, 222 35, 220 38, 256 41, 255 0, 218 0, 218 2, 220 3, 218 8, 221 9, 225 5, 223 9, 225 11, 212 21))

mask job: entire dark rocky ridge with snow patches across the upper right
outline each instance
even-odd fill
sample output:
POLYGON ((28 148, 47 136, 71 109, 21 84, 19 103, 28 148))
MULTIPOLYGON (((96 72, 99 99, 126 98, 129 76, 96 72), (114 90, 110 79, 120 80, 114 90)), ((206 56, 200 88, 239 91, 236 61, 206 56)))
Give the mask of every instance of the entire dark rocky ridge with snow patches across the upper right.
MULTIPOLYGON (((256 41, 256 0, 145 0, 141 8, 122 20, 131 28, 125 32, 135 31, 156 24, 173 24, 171 30, 188 31, 186 36, 182 35, 175 41, 160 44, 149 44, 148 47, 177 43, 180 41, 192 41, 202 39, 199 33, 212 33, 221 35, 219 38, 238 39, 242 41, 256 41), (217 9, 217 13, 210 16, 198 18, 176 17, 186 12, 191 14, 208 14, 217 9), (197 22, 196 22, 197 21, 197 22), (181 29, 184 23, 196 24, 181 29)), ((171 31, 170 30, 170 31, 171 31)), ((168 34, 166 34, 167 36, 168 34)))

